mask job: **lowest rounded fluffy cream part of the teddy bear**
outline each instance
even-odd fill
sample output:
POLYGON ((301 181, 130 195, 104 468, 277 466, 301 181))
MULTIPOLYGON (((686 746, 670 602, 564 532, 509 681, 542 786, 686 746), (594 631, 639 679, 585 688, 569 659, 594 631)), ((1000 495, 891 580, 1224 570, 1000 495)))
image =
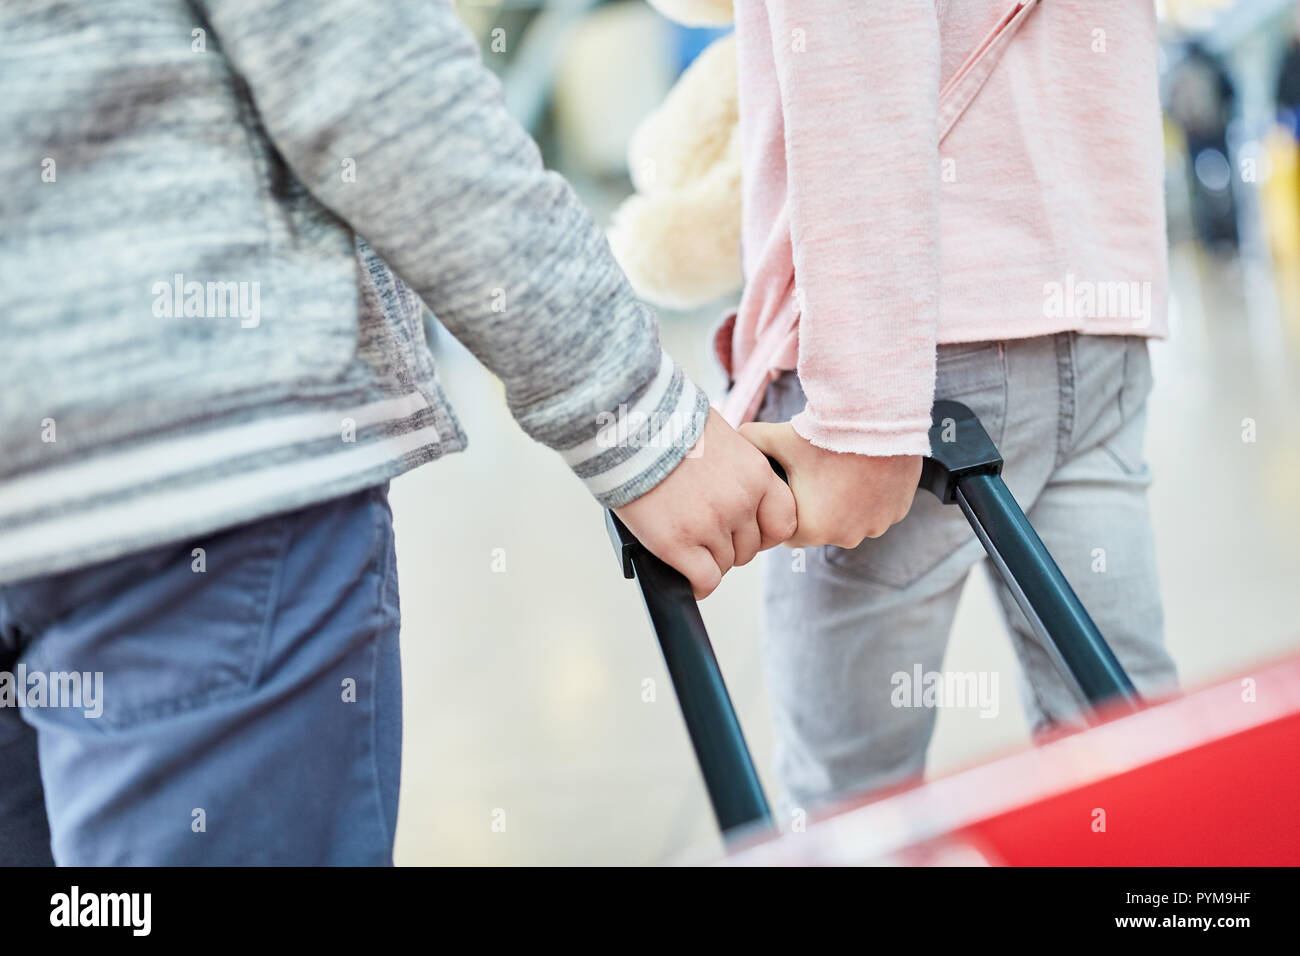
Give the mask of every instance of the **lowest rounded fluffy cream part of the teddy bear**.
POLYGON ((698 308, 741 285, 740 131, 703 177, 633 195, 614 213, 610 247, 637 294, 666 308, 698 308))

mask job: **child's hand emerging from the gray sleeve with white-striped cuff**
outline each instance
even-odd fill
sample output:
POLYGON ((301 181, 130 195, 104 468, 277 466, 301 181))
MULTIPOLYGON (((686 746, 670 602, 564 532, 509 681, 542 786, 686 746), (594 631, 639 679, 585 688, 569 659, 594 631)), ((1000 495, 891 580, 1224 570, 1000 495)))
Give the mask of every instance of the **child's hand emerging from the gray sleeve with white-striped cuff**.
POLYGON ((796 527, 790 489, 712 410, 692 454, 614 511, 641 544, 686 576, 697 600, 796 527))

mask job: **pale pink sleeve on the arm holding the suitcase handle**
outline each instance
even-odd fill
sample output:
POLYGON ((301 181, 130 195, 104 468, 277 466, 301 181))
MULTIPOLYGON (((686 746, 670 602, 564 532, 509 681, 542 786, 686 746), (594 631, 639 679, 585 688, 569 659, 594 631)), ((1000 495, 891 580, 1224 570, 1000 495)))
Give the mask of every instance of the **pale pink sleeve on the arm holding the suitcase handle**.
POLYGON ((928 454, 939 324, 933 0, 767 0, 807 395, 794 429, 928 454))

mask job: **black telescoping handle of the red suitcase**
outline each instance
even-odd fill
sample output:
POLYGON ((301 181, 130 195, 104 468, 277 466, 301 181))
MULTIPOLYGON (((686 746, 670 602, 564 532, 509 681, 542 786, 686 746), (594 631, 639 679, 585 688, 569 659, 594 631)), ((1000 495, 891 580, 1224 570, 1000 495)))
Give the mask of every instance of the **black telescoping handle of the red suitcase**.
MULTIPOLYGON (((772 467, 785 477, 776 462, 772 467)), ((1088 705, 1136 708, 1132 682, 1002 481, 993 440, 961 402, 935 402, 920 486, 961 507, 1030 626, 1088 705)), ((772 813, 690 584, 612 511, 606 524, 624 576, 641 585, 719 827, 724 834, 759 823, 771 829, 772 813)))

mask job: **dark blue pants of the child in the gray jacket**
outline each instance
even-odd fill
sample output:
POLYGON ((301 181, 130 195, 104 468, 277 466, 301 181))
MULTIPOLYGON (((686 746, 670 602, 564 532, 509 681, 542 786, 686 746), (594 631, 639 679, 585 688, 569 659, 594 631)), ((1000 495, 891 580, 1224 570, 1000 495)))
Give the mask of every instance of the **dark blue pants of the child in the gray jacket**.
POLYGON ((386 486, 0 587, 0 864, 391 864, 398 626, 386 486))

